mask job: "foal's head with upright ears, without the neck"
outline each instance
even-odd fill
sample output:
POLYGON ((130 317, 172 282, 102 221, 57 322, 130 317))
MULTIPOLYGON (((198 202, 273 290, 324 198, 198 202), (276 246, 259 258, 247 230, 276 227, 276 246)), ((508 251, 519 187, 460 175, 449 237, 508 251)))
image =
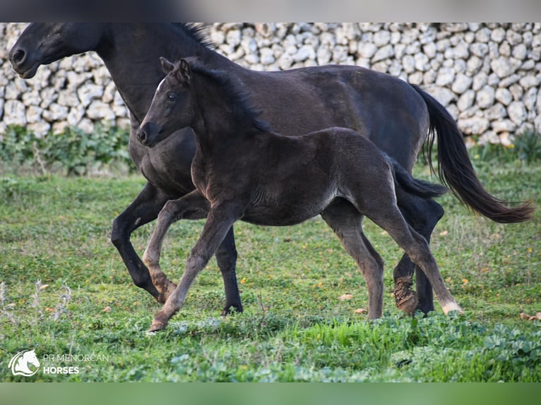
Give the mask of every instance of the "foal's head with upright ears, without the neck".
POLYGON ((152 104, 137 131, 139 142, 148 147, 174 131, 190 126, 194 119, 191 94, 191 66, 186 59, 172 64, 160 58, 165 78, 157 86, 152 104))

